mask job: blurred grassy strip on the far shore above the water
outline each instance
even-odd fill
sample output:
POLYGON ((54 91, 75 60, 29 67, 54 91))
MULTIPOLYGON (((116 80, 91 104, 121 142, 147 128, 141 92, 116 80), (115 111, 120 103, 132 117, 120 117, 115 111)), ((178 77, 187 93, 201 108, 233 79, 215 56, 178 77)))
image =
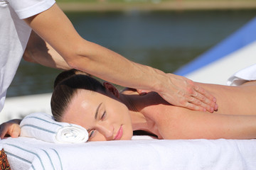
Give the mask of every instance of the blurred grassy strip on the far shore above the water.
POLYGON ((56 0, 63 11, 213 10, 256 8, 256 0, 56 0), (182 3, 178 6, 176 3, 182 3), (209 2, 209 3, 207 3, 209 2), (223 3, 220 3, 223 2, 223 3), (71 5, 70 5, 71 4, 71 5), (232 5, 230 5, 232 4, 232 5), (235 5, 234 5, 235 4, 235 5), (126 9, 124 9, 126 8, 126 9))

